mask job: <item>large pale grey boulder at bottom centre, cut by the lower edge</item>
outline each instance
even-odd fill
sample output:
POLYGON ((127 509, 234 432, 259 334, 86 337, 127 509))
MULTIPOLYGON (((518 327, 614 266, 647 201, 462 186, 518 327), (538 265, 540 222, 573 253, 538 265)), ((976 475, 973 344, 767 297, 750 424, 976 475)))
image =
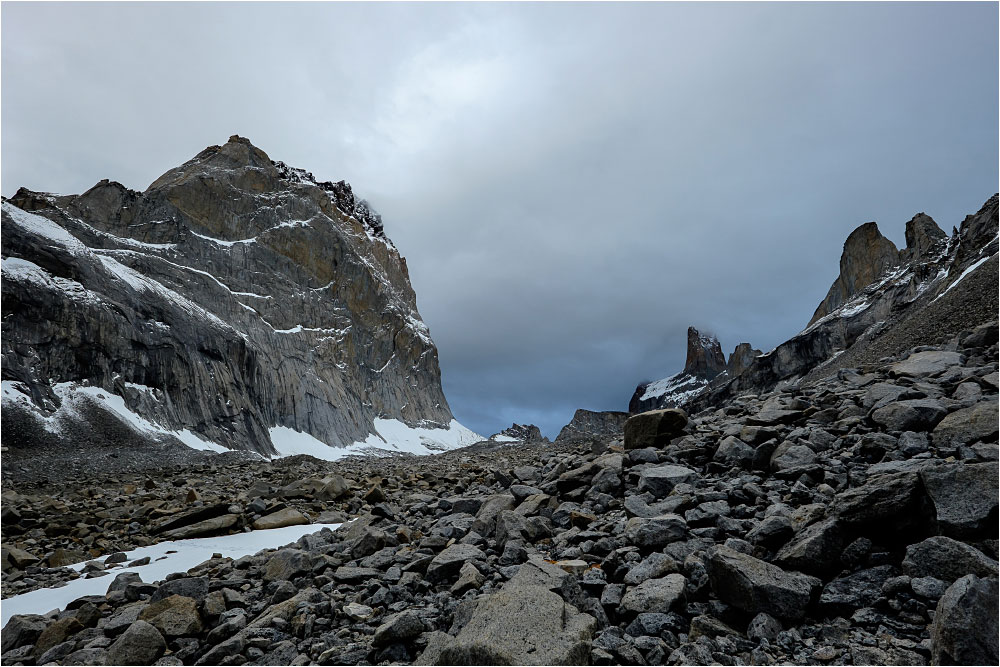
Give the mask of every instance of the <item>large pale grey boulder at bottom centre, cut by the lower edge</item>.
POLYGON ((437 655, 416 664, 583 665, 597 621, 543 586, 505 586, 476 606, 437 655))

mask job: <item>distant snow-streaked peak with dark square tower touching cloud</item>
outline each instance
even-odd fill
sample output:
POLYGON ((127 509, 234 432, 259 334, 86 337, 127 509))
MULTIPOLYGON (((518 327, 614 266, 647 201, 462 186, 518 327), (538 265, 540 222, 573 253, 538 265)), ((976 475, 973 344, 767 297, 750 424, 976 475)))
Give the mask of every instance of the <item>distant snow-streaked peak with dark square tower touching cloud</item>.
POLYGON ((687 360, 676 375, 640 384, 629 400, 630 413, 659 410, 683 405, 701 394, 711 383, 742 373, 760 354, 749 343, 740 343, 726 361, 719 339, 688 327, 687 360))

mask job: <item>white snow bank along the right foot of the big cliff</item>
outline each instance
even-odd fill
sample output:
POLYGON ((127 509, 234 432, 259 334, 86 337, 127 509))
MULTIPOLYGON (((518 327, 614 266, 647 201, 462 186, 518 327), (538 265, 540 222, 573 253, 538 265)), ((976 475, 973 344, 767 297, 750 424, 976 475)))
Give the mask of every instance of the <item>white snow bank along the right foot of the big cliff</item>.
POLYGON ((287 426, 272 427, 270 435, 271 443, 278 451, 278 458, 308 454, 325 461, 336 461, 358 454, 433 454, 486 439, 455 419, 451 420, 447 428, 412 427, 398 419, 376 419, 374 427, 376 433, 347 447, 331 447, 308 433, 287 426))

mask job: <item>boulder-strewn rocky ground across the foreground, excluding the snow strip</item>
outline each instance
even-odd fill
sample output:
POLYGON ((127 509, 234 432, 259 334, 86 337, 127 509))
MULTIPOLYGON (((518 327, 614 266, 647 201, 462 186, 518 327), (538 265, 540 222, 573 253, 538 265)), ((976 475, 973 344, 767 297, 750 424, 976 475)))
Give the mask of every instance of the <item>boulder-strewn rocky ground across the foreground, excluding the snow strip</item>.
MULTIPOLYGON (((997 328, 624 439, 4 478, 4 664, 997 664, 997 328), (160 539, 357 517, 165 582, 160 539), (268 519, 270 517, 270 519, 268 519), (105 574, 101 574, 105 573, 105 574)), ((5 454, 6 457, 6 454, 5 454)))

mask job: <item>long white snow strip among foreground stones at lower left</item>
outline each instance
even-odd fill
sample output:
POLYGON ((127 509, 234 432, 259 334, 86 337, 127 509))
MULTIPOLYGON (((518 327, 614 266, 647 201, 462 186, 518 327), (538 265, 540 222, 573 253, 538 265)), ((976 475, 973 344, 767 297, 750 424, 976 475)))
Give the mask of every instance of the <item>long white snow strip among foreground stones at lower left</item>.
MULTIPOLYGON (((204 563, 215 553, 221 553, 224 557, 234 559, 241 558, 263 549, 290 544, 303 535, 310 535, 324 528, 334 530, 338 526, 340 526, 339 523, 288 526, 221 537, 160 542, 149 547, 141 547, 127 552, 127 562, 149 556, 151 559, 149 565, 114 568, 103 577, 74 579, 60 588, 42 588, 9 597, 3 601, 2 608, 0 608, 0 615, 2 615, 0 624, 6 625, 10 617, 15 614, 45 614, 53 609, 62 609, 84 595, 104 595, 115 577, 123 572, 135 572, 142 577, 144 582, 154 583, 162 581, 167 575, 174 572, 186 572, 192 567, 204 563), (168 551, 176 553, 167 553, 168 551)), ((77 563, 70 567, 80 571, 84 565, 85 563, 77 563)))

